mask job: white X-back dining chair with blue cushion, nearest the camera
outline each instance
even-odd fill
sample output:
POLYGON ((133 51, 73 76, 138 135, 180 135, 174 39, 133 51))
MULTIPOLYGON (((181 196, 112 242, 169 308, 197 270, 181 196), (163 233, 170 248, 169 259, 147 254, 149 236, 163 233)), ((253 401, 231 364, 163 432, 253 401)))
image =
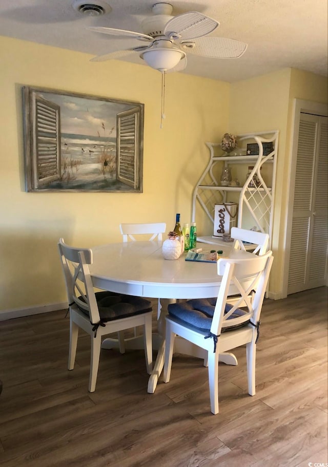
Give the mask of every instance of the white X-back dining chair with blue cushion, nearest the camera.
MULTIPOLYGON (((215 305, 207 299, 187 300, 171 304, 166 316, 166 350, 164 381, 171 375, 174 339, 176 335, 187 339, 208 352, 208 372, 211 412, 219 411, 218 358, 219 354, 246 345, 248 392, 255 394, 255 356, 259 337, 260 313, 272 266, 272 251, 263 256, 218 261, 221 286, 215 305), (249 292, 257 282, 254 300, 249 292), (231 283, 238 289, 240 303, 247 309, 229 304, 231 283)), ((211 299, 209 299, 211 300, 211 299)))

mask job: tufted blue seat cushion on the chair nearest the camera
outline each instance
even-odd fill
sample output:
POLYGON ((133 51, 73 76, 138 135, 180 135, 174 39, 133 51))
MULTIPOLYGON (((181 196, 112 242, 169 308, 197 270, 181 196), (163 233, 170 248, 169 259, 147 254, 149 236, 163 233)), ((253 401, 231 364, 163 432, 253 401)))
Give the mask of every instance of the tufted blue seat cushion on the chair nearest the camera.
MULTIPOLYGON (((214 308, 216 304, 216 298, 213 299, 193 299, 187 300, 186 302, 172 303, 168 306, 169 315, 174 316, 178 320, 185 322, 194 328, 197 328, 201 331, 210 331, 212 325, 212 319, 214 314, 214 308)), ((226 304, 224 313, 227 313, 231 310, 233 305, 229 303, 226 304)), ((229 331, 232 329, 245 326, 250 322, 250 312, 249 310, 243 310, 237 308, 231 316, 224 322, 224 327, 222 326, 221 332, 229 331), (245 321, 238 324, 234 324, 233 321, 235 318, 240 318, 241 316, 245 317, 245 321)))

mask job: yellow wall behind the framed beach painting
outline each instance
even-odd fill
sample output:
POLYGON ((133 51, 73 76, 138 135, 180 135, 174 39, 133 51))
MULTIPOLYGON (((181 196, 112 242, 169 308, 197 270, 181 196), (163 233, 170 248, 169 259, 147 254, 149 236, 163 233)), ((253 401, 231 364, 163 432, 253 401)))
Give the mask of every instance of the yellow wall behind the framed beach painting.
POLYGON ((186 74, 166 78, 122 61, 0 37, 0 310, 65 302, 59 237, 92 246, 121 241, 120 222, 190 222, 192 190, 208 162, 204 141, 228 128, 230 85, 186 74), (145 104, 144 193, 26 193, 21 88, 74 91, 145 104))

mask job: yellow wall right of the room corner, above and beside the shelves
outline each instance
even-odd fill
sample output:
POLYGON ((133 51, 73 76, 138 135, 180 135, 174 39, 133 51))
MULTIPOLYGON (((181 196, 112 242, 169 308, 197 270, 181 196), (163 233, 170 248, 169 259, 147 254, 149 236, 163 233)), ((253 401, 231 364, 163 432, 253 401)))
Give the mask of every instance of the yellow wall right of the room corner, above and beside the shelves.
POLYGON ((279 130, 270 290, 281 298, 294 98, 327 102, 327 78, 294 69, 231 85, 229 128, 236 134, 279 130))

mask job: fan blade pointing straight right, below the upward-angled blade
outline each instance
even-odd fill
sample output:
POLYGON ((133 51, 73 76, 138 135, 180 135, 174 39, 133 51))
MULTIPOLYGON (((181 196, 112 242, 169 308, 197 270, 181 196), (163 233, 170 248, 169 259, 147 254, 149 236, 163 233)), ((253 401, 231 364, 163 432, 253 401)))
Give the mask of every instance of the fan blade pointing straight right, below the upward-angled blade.
MULTIPOLYGON (((189 43, 190 44, 190 43, 189 43)), ((210 58, 239 58, 247 49, 247 44, 235 39, 225 37, 199 37, 195 40, 195 47, 188 43, 180 43, 183 50, 188 53, 210 58)))

